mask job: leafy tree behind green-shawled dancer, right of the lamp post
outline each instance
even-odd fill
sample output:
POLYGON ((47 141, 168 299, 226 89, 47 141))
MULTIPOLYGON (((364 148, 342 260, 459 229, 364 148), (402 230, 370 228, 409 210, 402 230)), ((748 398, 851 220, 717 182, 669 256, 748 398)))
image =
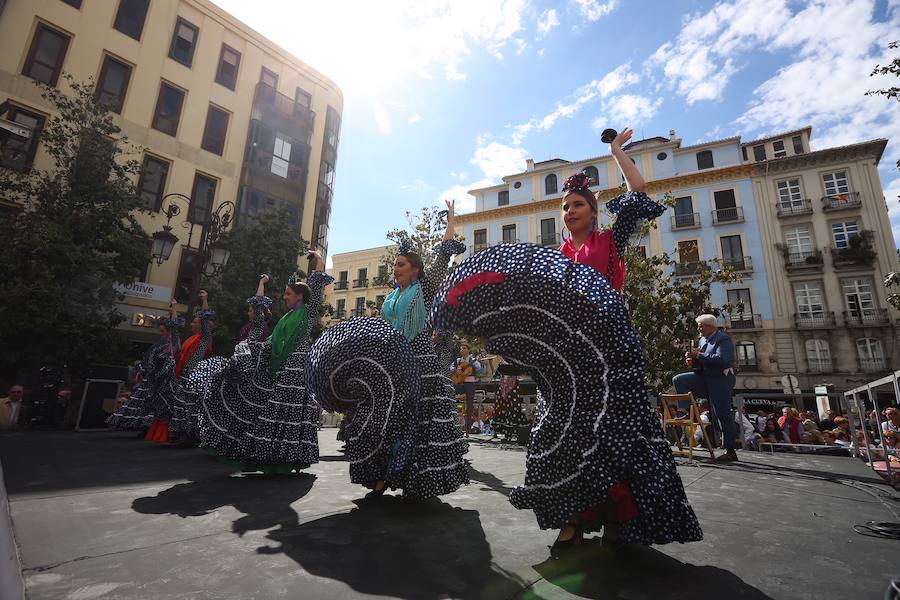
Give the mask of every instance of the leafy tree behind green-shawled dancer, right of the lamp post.
POLYGON ((309 243, 290 224, 287 212, 263 213, 255 220, 245 219, 229 231, 224 243, 231 251, 225 268, 212 278, 203 280, 209 292, 210 305, 216 310, 213 344, 217 354, 231 354, 234 339, 247 323, 247 298, 256 293, 259 276, 267 273, 271 280, 266 293, 272 298, 273 322, 287 307, 282 299, 288 278, 297 274, 297 257, 305 256, 309 243))

